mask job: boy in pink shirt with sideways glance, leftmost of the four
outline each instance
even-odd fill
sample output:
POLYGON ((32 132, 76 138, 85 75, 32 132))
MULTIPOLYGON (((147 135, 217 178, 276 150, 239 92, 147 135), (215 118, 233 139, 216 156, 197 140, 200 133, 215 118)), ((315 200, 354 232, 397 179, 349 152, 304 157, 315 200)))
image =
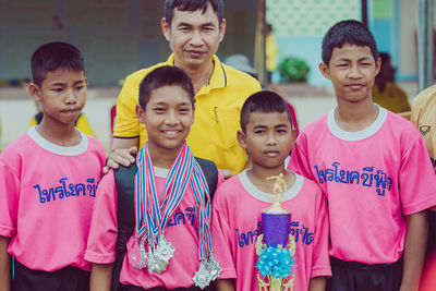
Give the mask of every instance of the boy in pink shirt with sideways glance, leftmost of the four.
POLYGON ((0 289, 89 288, 84 258, 105 147, 74 123, 86 102, 84 60, 66 43, 49 43, 32 57, 39 125, 0 155, 0 289), (7 253, 8 252, 8 253, 7 253))

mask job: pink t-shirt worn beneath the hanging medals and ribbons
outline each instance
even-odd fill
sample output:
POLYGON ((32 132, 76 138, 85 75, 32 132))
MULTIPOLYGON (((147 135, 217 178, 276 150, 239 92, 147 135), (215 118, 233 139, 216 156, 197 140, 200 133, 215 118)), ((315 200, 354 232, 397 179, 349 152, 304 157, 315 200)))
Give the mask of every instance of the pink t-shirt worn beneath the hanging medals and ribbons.
MULTIPOLYGON (((164 201, 164 190, 167 169, 155 167, 156 189, 159 203, 164 201)), ((219 175, 218 184, 222 181, 219 175)), ((165 287, 168 289, 185 288, 194 284, 192 277, 198 270, 198 228, 195 215, 195 198, 191 186, 186 187, 179 207, 169 219, 165 238, 175 251, 169 260, 167 270, 161 274, 148 272, 146 268, 136 269, 140 260, 136 234, 134 233, 126 243, 126 254, 123 260, 120 281, 149 289, 165 287)), ((116 241, 118 235, 117 223, 117 186, 113 172, 106 174, 98 186, 94 207, 92 227, 85 258, 90 263, 109 264, 116 259, 116 241)), ((134 215, 134 214, 132 214, 134 215)))

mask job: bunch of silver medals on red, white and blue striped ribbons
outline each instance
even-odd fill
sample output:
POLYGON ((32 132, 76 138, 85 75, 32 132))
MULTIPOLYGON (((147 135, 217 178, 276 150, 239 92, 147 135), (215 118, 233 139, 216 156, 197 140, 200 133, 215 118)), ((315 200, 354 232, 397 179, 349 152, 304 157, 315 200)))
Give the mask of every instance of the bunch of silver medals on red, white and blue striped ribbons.
POLYGON ((174 254, 174 246, 165 239, 165 228, 168 219, 179 207, 187 185, 194 194, 195 214, 198 225, 198 257, 199 269, 193 281, 198 287, 206 287, 215 280, 221 268, 213 255, 210 239, 210 196, 204 173, 194 159, 186 143, 181 147, 165 184, 164 202, 159 205, 155 173, 147 145, 137 157, 135 177, 135 215, 136 240, 141 254, 136 268, 147 267, 149 274, 165 271, 174 254), (145 244, 148 244, 148 253, 145 244))

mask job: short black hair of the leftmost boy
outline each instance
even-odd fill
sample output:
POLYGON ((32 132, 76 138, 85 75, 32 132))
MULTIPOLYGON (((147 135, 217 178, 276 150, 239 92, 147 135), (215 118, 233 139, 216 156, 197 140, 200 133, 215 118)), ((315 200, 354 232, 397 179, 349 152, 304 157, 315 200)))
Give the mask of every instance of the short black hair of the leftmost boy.
POLYGON ((85 71, 85 60, 78 50, 71 44, 63 41, 48 43, 40 46, 32 54, 32 77, 39 87, 48 72, 56 70, 85 71))

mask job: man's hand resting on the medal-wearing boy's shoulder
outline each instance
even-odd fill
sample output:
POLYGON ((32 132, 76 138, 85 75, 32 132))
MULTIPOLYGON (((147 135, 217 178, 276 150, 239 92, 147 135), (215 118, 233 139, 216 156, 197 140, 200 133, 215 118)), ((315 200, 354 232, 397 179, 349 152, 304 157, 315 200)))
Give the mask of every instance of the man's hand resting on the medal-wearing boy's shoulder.
POLYGON ((102 169, 104 173, 109 171, 109 168, 118 169, 119 165, 129 167, 135 162, 133 155, 137 153, 140 137, 132 138, 118 138, 113 137, 112 148, 106 160, 106 167, 102 169))

